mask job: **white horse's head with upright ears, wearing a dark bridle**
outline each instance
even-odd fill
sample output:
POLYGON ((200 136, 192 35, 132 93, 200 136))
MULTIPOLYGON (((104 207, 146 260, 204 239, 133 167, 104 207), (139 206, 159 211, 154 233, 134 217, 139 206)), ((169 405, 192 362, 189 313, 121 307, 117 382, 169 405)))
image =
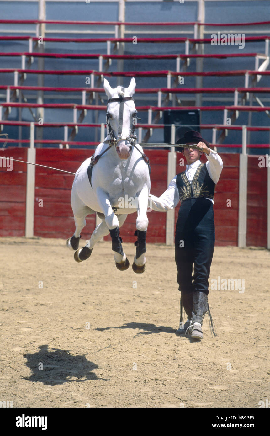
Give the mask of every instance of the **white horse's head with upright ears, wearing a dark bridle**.
POLYGON ((111 88, 108 80, 104 78, 104 89, 108 96, 107 129, 120 159, 127 159, 132 151, 133 119, 137 113, 132 98, 135 86, 134 77, 130 80, 128 88, 111 88))

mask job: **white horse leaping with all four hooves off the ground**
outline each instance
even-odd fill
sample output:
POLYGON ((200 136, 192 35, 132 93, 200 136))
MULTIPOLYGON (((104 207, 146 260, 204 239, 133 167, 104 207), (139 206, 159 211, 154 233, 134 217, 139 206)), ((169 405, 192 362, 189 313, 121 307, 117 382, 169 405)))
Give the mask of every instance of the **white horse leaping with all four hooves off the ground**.
POLYGON ((134 272, 141 273, 145 270, 146 262, 144 253, 150 167, 134 134, 137 110, 132 95, 136 83, 132 78, 128 88, 117 86, 113 89, 104 78, 103 85, 109 98, 106 113, 108 136, 75 174, 71 205, 76 230, 67 240, 67 245, 75 250, 75 260, 82 262, 89 258, 96 242, 110 233, 116 267, 125 270, 130 264, 123 252, 119 228, 127 214, 137 210, 137 247, 132 268, 134 272), (95 212, 102 218, 102 222, 96 226, 85 247, 79 249, 80 234, 86 224, 85 217, 95 212))

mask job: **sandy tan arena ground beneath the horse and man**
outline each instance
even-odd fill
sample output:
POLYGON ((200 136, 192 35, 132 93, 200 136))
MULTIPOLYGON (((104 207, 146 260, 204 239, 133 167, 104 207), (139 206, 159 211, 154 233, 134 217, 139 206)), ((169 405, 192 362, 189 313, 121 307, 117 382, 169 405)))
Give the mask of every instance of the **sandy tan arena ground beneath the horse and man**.
POLYGON ((210 290, 218 336, 206 315, 200 342, 175 334, 174 247, 148 244, 143 274, 131 268, 134 245, 123 248, 122 272, 110 242, 78 264, 63 239, 0 238, 0 401, 258 408, 270 398, 270 252, 215 247, 210 280, 244 279, 245 290, 210 290))

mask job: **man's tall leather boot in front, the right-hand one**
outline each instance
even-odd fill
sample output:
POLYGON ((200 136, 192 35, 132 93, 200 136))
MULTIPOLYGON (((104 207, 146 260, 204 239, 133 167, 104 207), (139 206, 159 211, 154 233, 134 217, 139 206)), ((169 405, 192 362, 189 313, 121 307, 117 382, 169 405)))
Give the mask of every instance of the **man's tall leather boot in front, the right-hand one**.
POLYGON ((193 310, 191 319, 191 337, 203 339, 202 320, 208 310, 208 298, 204 292, 193 293, 193 310))

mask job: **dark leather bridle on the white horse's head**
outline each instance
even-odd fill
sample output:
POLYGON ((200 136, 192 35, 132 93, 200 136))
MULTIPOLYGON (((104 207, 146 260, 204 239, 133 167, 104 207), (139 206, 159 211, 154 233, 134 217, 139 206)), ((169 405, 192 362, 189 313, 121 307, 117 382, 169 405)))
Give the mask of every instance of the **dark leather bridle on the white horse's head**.
MULTIPOLYGON (((125 92, 125 88, 123 86, 121 86, 121 90, 124 93, 125 92)), ((119 105, 119 117, 118 117, 118 135, 117 138, 113 132, 112 126, 110 124, 110 120, 109 120, 109 114, 108 112, 106 112, 106 121, 107 121, 107 126, 108 126, 108 130, 109 130, 109 135, 111 137, 111 139, 105 141, 108 142, 110 144, 110 146, 117 146, 117 144, 120 141, 126 140, 128 141, 131 146, 133 146, 136 142, 137 142, 137 135, 135 133, 135 126, 132 125, 132 129, 131 132, 129 133, 128 136, 122 136, 122 130, 123 130, 123 113, 124 113, 124 103, 129 101, 129 100, 133 100, 132 97, 118 97, 115 99, 108 99, 107 101, 107 109, 108 109, 108 103, 112 103, 112 102, 120 102, 119 105)))

